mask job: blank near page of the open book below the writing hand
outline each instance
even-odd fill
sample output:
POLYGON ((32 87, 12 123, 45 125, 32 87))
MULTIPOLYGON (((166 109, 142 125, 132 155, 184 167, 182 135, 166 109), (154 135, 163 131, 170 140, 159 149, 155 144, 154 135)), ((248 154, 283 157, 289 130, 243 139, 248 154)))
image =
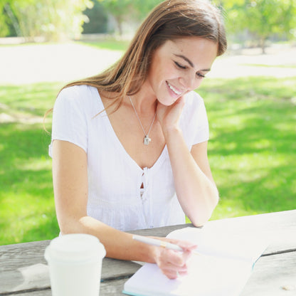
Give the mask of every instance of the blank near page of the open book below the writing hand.
POLYGON ((246 261, 193 255, 188 274, 169 280, 156 264, 147 263, 125 283, 129 295, 235 296, 250 275, 246 261))

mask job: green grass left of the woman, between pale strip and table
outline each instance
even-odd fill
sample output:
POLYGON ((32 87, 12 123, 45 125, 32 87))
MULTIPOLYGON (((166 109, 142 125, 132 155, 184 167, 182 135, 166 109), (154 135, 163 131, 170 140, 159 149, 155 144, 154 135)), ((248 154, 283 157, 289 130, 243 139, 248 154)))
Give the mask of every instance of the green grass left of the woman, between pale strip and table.
POLYGON ((52 238, 58 224, 48 157, 50 136, 42 125, 18 123, 1 124, 0 134, 0 245, 52 238), (35 235, 28 236, 33 228, 35 235))

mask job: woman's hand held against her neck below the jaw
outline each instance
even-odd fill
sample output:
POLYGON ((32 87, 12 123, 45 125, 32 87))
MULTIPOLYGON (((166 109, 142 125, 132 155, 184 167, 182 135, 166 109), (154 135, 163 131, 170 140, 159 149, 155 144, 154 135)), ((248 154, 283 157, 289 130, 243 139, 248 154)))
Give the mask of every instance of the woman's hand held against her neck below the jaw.
POLYGON ((179 126, 179 119, 185 104, 184 97, 179 97, 174 104, 166 106, 157 102, 157 120, 162 126, 162 131, 176 128, 179 126))

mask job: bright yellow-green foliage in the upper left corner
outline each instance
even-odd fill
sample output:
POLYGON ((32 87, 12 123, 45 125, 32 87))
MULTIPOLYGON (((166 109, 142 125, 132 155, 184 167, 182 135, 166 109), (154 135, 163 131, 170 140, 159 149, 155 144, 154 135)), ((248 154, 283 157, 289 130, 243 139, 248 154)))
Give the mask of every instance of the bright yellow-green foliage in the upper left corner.
POLYGON ((86 20, 83 11, 91 6, 90 0, 0 0, 0 34, 6 36, 12 24, 18 36, 28 39, 75 38, 86 20))

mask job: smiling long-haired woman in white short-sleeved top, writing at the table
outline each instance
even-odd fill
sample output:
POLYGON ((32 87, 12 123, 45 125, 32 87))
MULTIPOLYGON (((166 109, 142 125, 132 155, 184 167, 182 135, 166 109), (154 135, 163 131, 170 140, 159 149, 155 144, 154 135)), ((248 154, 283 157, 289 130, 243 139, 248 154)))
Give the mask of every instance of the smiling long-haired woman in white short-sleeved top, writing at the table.
POLYGON ((206 110, 193 90, 224 51, 217 9, 164 1, 119 62, 61 90, 50 145, 61 233, 90 233, 108 257, 157 263, 169 278, 186 273, 196 245, 174 240, 180 253, 125 231, 210 218, 218 191, 206 110))

